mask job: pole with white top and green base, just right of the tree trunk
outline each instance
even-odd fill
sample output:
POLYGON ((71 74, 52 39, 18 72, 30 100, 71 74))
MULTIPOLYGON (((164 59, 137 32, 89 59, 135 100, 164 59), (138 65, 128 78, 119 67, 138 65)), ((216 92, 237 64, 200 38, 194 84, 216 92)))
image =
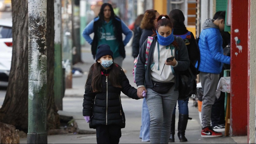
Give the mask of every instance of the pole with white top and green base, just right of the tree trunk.
POLYGON ((54 102, 58 110, 63 110, 63 70, 62 70, 62 24, 61 0, 54 1, 54 102))

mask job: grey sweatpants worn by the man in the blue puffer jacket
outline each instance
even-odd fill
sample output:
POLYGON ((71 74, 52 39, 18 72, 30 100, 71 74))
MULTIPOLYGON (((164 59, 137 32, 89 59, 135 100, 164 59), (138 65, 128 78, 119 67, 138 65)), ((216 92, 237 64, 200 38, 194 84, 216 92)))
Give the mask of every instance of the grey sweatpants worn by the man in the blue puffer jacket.
POLYGON ((200 72, 199 77, 204 92, 202 104, 202 125, 204 128, 211 126, 211 107, 216 99, 215 93, 220 75, 200 72))

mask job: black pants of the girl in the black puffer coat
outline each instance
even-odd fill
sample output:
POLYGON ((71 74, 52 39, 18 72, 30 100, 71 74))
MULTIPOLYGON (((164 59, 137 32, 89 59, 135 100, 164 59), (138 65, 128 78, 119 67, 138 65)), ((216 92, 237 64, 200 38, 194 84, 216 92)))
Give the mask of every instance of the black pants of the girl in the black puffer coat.
POLYGON ((121 128, 117 125, 99 125, 96 127, 97 143, 119 143, 121 128))

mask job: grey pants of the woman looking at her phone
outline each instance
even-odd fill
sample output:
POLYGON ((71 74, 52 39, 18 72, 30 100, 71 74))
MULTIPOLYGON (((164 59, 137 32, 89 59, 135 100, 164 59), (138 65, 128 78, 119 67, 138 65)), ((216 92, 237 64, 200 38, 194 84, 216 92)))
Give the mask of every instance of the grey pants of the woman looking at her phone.
POLYGON ((177 103, 179 91, 174 87, 166 94, 159 94, 147 89, 146 101, 150 114, 150 143, 168 143, 172 112, 177 103))

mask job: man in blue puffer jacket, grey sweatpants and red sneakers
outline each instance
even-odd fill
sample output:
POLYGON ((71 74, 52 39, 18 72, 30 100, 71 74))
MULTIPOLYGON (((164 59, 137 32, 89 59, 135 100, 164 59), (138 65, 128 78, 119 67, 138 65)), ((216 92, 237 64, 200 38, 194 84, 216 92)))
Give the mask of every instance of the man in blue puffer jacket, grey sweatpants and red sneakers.
POLYGON ((202 137, 222 136, 221 132, 216 132, 211 127, 211 107, 215 101, 215 92, 222 65, 223 63, 230 64, 230 57, 223 55, 222 37, 220 34, 220 31, 224 30, 225 14, 226 12, 223 11, 216 20, 207 19, 204 22, 198 44, 200 49, 199 76, 204 91, 202 105, 202 137))

